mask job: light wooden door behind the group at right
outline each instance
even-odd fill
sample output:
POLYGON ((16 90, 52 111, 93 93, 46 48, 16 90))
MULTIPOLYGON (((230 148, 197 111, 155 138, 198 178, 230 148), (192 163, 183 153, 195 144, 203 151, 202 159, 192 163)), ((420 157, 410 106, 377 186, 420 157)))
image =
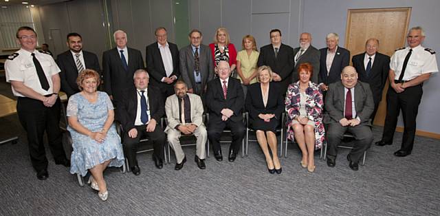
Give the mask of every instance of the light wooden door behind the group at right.
MULTIPOLYGON (((388 56, 404 47, 410 14, 411 8, 349 9, 345 47, 351 52, 350 60, 352 56, 365 52, 365 41, 370 38, 379 39, 377 52, 388 56)), ((384 125, 387 90, 388 82, 382 93, 374 125, 384 125)))

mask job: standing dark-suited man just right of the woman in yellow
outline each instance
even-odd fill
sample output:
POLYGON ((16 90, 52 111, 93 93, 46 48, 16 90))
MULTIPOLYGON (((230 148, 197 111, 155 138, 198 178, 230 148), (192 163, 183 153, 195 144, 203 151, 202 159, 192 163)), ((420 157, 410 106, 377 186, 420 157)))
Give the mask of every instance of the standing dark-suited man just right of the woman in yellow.
POLYGON ((270 31, 271 44, 260 49, 258 67, 267 65, 274 72, 273 80, 278 82, 283 95, 286 94, 287 86, 292 82, 294 70, 294 50, 289 45, 281 43, 281 30, 270 31))

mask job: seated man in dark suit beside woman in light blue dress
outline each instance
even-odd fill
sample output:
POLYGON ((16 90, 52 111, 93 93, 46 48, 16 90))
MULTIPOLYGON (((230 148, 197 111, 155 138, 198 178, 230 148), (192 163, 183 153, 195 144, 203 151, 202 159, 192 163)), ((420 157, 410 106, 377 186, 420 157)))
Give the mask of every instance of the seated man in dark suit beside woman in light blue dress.
POLYGON ((166 135, 159 125, 164 116, 164 102, 157 87, 148 86, 149 76, 144 69, 134 74, 135 88, 126 89, 117 113, 122 124, 122 143, 131 171, 140 174, 136 151, 142 136, 153 142, 153 160, 157 169, 162 169, 166 135))

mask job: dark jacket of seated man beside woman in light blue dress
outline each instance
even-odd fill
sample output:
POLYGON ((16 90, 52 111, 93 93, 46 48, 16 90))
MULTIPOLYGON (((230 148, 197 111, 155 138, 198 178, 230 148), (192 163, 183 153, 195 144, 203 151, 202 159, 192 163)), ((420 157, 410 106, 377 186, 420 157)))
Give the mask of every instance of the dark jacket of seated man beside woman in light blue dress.
MULTIPOLYGON (((129 131, 135 127, 136 111, 137 111, 137 90, 133 87, 126 89, 123 93, 120 107, 116 109, 118 120, 120 120, 124 131, 129 131)), ((150 117, 154 118, 156 122, 160 122, 160 118, 164 116, 164 100, 162 94, 157 87, 148 86, 148 109, 150 110, 150 117)))

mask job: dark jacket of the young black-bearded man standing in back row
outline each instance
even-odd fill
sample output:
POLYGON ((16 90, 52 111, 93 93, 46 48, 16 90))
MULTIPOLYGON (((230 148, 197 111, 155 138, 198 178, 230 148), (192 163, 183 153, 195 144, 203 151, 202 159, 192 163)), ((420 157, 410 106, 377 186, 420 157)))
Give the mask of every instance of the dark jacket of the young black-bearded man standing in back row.
MULTIPOLYGON (((96 54, 83 50, 83 58, 85 69, 93 69, 101 74, 99 66, 98 56, 96 54)), ((78 78, 78 68, 76 67, 76 59, 72 56, 72 52, 67 50, 56 57, 56 64, 60 67, 61 89, 67 94, 68 97, 80 92, 78 85, 76 84, 76 78, 78 78)))

